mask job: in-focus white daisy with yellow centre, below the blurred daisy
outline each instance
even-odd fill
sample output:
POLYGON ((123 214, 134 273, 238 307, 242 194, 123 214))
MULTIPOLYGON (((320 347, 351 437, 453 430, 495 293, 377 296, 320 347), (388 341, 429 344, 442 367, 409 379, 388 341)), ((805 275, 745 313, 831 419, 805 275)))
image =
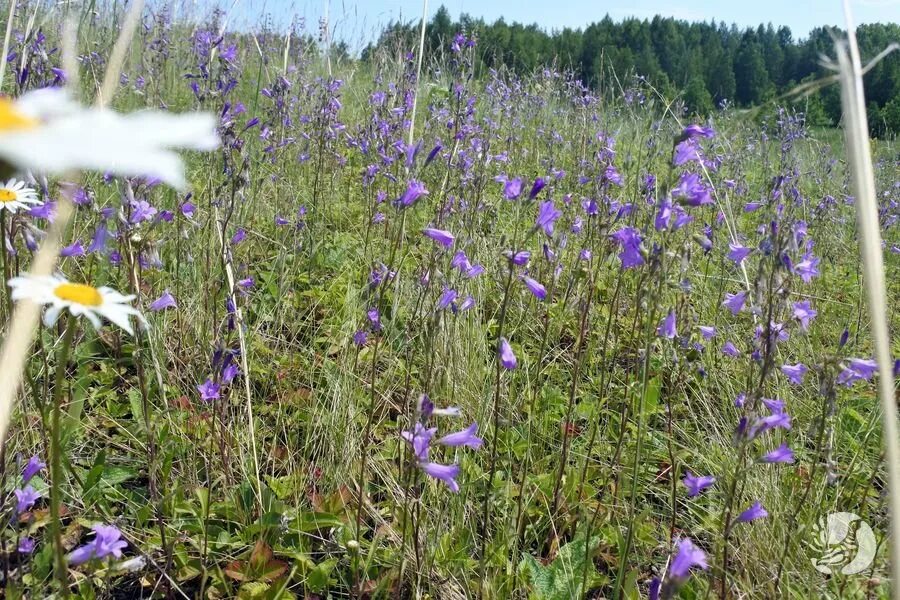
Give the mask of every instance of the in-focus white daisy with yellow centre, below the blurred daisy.
POLYGON ((100 317, 115 323, 134 335, 129 317, 134 316, 144 326, 147 322, 129 302, 134 296, 123 296, 112 288, 72 283, 60 275, 25 275, 9 280, 13 300, 31 300, 48 305, 44 313, 44 325, 50 327, 63 310, 79 317, 84 316, 95 329, 101 326, 100 317))

